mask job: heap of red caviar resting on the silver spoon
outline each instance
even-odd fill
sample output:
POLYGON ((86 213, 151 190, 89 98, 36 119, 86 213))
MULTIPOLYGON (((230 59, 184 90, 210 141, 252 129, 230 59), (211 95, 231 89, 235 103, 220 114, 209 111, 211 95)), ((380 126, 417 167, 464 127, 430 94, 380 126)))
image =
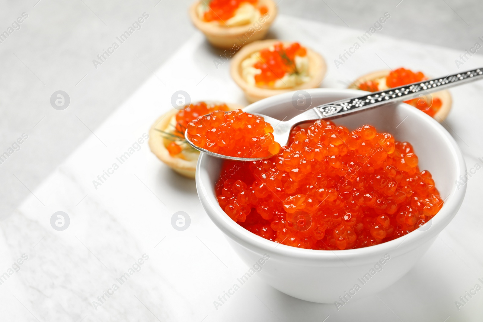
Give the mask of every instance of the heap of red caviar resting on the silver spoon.
POLYGON ((187 128, 195 145, 218 154, 256 158, 280 150, 280 144, 273 139, 273 127, 263 117, 241 110, 199 116, 187 128))

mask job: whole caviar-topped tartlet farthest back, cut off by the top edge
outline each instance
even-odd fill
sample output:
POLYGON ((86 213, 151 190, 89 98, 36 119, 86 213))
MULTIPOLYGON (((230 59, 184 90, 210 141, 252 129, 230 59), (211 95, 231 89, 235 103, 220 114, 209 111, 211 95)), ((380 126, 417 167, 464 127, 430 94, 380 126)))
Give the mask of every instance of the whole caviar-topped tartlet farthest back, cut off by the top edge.
POLYGON ((200 0, 189 9, 191 21, 215 47, 233 55, 263 39, 277 15, 273 0, 200 0))

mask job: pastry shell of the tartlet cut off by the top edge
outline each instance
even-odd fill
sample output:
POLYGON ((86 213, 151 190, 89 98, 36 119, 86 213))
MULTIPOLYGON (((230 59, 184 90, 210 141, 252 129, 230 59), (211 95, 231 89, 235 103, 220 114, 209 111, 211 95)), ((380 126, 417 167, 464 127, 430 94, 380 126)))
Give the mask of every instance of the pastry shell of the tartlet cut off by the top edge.
POLYGON ((249 32, 250 28, 253 28, 254 23, 243 25, 243 26, 234 26, 234 27, 220 27, 216 24, 206 22, 201 20, 198 17, 197 7, 201 1, 195 1, 189 8, 189 16, 191 18, 191 22, 198 28, 202 33, 205 34, 208 41, 215 47, 222 48, 222 49, 230 49, 235 47, 235 44, 238 46, 246 45, 250 42, 255 42, 257 40, 263 39, 267 32, 269 31, 270 25, 275 20, 277 16, 277 8, 275 7, 276 4, 273 0, 259 0, 261 5, 265 5, 268 9, 269 17, 265 18, 263 23, 258 22, 262 28, 256 30, 252 34, 249 32), (246 41, 243 42, 242 37, 246 35, 246 33, 250 35, 247 37, 246 41))

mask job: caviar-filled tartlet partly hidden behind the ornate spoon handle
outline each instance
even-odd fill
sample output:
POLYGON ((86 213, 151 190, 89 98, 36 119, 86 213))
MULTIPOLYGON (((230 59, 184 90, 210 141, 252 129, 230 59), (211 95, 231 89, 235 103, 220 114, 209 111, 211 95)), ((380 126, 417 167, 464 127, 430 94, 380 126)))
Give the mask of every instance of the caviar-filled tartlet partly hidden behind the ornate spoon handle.
MULTIPOLYGON (((426 79, 429 79, 429 77, 421 71, 413 72, 401 67, 397 70, 375 71, 359 77, 354 83, 349 85, 349 88, 377 92, 426 79)), ((425 112, 438 122, 442 122, 448 116, 453 101, 450 92, 442 90, 426 95, 421 94, 421 96, 405 101, 405 103, 425 112)))

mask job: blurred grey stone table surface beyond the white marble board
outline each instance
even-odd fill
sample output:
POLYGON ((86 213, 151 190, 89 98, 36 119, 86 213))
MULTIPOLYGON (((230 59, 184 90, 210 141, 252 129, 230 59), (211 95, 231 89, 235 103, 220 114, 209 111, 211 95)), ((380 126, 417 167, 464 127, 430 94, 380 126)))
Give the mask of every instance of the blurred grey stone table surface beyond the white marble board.
MULTIPOLYGON (((0 154, 7 153, 0 159, 0 218, 193 34, 190 2, 0 1, 0 34, 8 34, 0 37, 0 154), (140 29, 95 66, 93 60, 143 13, 148 17, 140 29), (57 90, 70 97, 63 111, 50 104, 57 90)), ((462 54, 483 36, 478 0, 281 0, 277 7, 282 14, 362 30, 389 12, 392 19, 380 34, 462 54)))

